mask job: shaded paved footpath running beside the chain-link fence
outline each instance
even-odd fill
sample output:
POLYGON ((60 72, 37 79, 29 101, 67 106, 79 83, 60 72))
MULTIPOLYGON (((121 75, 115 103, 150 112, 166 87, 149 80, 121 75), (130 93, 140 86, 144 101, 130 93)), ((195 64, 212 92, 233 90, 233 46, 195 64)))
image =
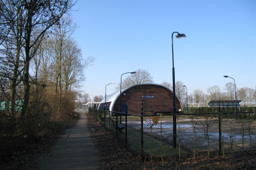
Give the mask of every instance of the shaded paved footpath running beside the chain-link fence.
POLYGON ((98 169, 98 150, 89 136, 87 116, 79 111, 80 119, 56 142, 50 153, 37 160, 35 169, 98 169))

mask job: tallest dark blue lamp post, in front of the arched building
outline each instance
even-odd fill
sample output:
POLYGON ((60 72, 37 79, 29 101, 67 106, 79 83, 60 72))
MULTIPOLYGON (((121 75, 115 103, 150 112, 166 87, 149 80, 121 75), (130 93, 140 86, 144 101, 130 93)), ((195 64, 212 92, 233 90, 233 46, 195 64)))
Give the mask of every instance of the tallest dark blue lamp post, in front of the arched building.
POLYGON ((176 120, 176 97, 175 97, 175 73, 174 73, 174 51, 173 51, 173 34, 177 34, 176 38, 186 38, 185 34, 179 34, 179 32, 174 31, 172 33, 172 86, 173 86, 173 148, 176 146, 177 137, 177 120, 176 120))

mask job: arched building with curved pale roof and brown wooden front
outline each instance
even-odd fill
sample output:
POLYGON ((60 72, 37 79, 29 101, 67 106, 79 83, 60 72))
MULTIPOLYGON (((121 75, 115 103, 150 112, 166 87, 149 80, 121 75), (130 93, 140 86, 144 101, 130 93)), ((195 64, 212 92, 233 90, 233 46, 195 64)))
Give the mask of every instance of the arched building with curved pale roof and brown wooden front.
MULTIPOLYGON (((120 92, 110 94, 101 101, 98 108, 104 109, 104 106, 106 106, 106 110, 118 112, 125 112, 125 108, 127 108, 129 114, 141 115, 141 101, 143 101, 144 115, 168 114, 173 111, 172 90, 163 85, 153 83, 127 87, 122 90, 121 99, 120 92), (120 101, 122 110, 120 109, 120 101)), ((177 113, 182 112, 181 102, 177 96, 176 111, 177 113)))

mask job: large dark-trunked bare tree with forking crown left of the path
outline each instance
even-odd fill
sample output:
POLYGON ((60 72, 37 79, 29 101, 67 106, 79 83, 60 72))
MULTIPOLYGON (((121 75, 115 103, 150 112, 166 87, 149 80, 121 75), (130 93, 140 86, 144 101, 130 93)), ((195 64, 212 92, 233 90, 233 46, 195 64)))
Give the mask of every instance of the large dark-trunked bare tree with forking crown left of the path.
POLYGON ((6 27, 13 34, 18 33, 15 34, 16 49, 24 54, 24 101, 20 115, 27 113, 30 99, 30 62, 46 31, 58 24, 60 17, 71 7, 71 0, 1 0, 1 14, 4 14, 6 27))

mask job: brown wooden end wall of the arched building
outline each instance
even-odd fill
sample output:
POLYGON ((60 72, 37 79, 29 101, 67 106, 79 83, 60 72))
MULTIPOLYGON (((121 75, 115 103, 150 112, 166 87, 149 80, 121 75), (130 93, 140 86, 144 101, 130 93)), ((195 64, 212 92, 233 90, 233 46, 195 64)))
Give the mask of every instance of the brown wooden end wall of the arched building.
MULTIPOLYGON (((122 92, 122 104, 128 104, 128 113, 141 115, 143 101, 144 115, 172 113, 172 91, 160 85, 136 85, 122 92)), ((120 97, 114 105, 114 111, 120 111, 120 97)), ((176 97, 176 111, 181 111, 181 104, 176 97)))

